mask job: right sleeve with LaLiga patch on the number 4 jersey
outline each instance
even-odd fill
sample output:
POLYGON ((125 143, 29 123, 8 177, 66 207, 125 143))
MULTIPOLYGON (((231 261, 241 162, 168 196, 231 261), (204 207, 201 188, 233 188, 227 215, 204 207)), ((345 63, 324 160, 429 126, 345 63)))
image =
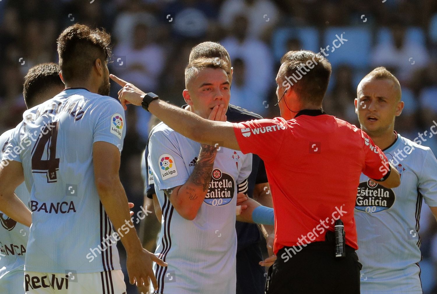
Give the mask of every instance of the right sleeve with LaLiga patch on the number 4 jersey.
MULTIPOLYGON (((117 100, 111 99, 105 101, 103 107, 99 107, 101 112, 97 111, 95 115, 98 118, 92 119, 91 121, 96 121, 94 126, 94 142, 108 142, 117 146, 118 150, 121 152, 123 149, 123 141, 126 135, 126 121, 125 121, 125 111, 117 100)), ((93 113, 91 113, 92 115, 93 113)))

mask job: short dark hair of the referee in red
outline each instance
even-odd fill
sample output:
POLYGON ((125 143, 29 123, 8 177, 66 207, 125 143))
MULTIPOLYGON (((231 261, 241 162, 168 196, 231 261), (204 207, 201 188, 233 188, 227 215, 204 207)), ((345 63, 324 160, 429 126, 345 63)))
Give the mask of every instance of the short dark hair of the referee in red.
POLYGON ((289 51, 281 64, 281 83, 288 83, 302 101, 321 105, 332 72, 328 59, 309 50, 289 51))

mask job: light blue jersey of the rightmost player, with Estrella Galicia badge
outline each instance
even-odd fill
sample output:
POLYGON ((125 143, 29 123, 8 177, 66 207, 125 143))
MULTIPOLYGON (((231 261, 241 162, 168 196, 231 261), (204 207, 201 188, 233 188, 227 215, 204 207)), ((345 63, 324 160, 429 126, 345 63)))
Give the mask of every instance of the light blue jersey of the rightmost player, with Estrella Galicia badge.
POLYGON ((422 294, 419 218, 437 206, 437 160, 430 148, 398 135, 384 150, 401 174, 394 189, 361 175, 355 206, 362 294, 422 294))

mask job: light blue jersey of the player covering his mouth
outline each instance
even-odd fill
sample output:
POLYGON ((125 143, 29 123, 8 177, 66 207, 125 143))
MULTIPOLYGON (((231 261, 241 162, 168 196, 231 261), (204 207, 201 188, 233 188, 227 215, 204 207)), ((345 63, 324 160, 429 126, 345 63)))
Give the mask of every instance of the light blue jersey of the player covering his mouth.
POLYGON ((194 220, 180 216, 164 190, 183 185, 194 170, 201 145, 157 125, 149 140, 148 163, 163 212, 154 264, 161 294, 235 294, 237 237, 236 195, 246 192, 252 154, 220 147, 208 193, 194 220))

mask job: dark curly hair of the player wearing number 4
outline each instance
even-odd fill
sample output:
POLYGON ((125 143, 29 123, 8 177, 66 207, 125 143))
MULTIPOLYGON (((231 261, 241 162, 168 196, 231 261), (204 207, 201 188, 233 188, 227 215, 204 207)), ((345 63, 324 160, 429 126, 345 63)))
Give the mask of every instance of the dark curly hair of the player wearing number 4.
POLYGON ((57 44, 59 68, 66 82, 87 79, 96 59, 108 62, 111 58, 111 36, 83 24, 62 31, 57 44))

